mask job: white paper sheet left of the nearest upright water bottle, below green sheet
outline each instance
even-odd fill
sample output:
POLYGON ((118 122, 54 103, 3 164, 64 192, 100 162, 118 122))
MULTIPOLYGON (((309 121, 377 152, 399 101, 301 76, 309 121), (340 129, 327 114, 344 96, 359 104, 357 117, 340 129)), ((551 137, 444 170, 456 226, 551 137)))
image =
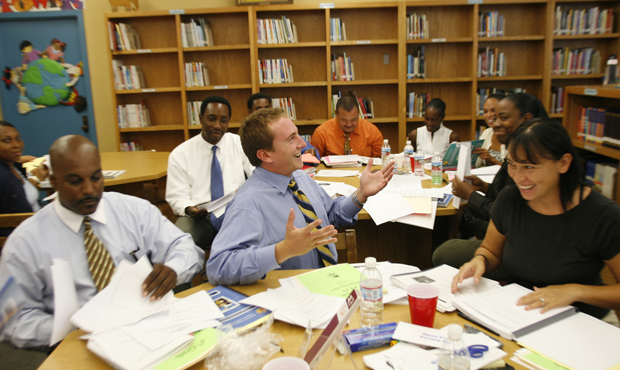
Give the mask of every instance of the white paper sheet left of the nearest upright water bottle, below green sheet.
POLYGON ((255 294, 241 303, 274 311, 275 318, 294 325, 324 329, 342 307, 344 298, 305 292, 301 289, 280 287, 255 294))

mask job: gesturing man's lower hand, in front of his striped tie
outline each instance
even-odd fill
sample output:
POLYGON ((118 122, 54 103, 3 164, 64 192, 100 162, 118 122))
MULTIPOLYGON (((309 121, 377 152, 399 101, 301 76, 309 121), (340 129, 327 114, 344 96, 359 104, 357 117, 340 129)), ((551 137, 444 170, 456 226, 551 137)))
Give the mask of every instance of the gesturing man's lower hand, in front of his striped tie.
POLYGON ((335 243, 336 238, 332 236, 336 235, 338 230, 333 225, 316 229, 322 222, 322 220, 316 220, 298 229, 295 227, 295 211, 291 208, 286 222, 284 240, 276 244, 276 262, 281 264, 289 258, 302 256, 318 246, 335 243))

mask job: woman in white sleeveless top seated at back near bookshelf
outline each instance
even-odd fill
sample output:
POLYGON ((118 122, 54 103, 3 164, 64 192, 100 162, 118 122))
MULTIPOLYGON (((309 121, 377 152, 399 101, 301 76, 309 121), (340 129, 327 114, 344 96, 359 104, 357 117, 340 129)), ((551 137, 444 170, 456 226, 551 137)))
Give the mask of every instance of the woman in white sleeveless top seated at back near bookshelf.
POLYGON ((424 154, 439 153, 443 158, 448 146, 459 141, 459 135, 443 125, 446 116, 446 103, 439 98, 432 99, 424 110, 424 126, 409 133, 413 150, 424 154))

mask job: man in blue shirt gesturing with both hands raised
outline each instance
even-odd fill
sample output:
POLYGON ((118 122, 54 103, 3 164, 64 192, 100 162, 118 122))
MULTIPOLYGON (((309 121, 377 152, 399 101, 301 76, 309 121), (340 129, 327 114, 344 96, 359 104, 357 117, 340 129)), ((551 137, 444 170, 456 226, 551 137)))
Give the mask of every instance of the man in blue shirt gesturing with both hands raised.
POLYGON ((368 197, 391 179, 393 164, 374 173, 369 165, 352 196, 332 199, 300 171, 305 142, 284 110, 253 113, 241 122, 239 135, 256 170, 228 204, 207 262, 209 282, 251 284, 277 268, 320 268, 325 265, 322 246, 337 261, 336 228, 357 222, 368 197), (304 218, 289 187, 291 180, 308 198, 317 220, 308 223, 304 218))

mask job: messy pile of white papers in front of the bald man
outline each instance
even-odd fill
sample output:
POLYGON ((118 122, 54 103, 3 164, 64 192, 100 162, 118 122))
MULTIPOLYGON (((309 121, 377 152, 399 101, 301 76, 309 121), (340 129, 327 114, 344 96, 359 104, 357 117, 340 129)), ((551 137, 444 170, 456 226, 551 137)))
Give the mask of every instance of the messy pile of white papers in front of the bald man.
POLYGON ((121 262, 110 285, 71 318, 92 333, 88 349, 114 367, 152 367, 191 343, 191 333, 218 326, 224 317, 205 291, 183 299, 172 292, 158 301, 143 297, 151 270, 146 258, 121 262))

